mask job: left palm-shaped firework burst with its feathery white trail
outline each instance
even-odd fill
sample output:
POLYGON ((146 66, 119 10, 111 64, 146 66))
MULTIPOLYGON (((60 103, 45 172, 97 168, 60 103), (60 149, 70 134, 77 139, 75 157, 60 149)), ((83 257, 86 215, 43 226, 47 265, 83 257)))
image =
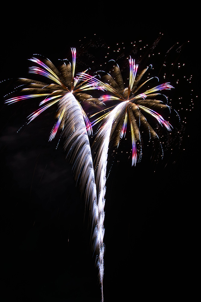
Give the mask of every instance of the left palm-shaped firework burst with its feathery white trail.
POLYGON ((55 137, 59 127, 62 129, 67 150, 67 157, 73 165, 73 172, 76 181, 80 179, 80 190, 84 193, 86 202, 96 202, 96 185, 94 181, 94 170, 91 156, 91 149, 87 130, 92 133, 92 127, 80 102, 96 106, 97 99, 83 91, 96 87, 96 84, 86 81, 80 82, 75 74, 76 50, 71 48, 73 60, 72 66, 63 63, 59 70, 48 59, 32 58, 30 61, 36 63, 36 67, 30 67, 30 72, 45 76, 50 79, 50 83, 38 82, 30 79, 20 79, 26 88, 21 90, 22 96, 8 99, 7 104, 25 100, 29 98, 42 98, 37 111, 28 118, 29 122, 35 119, 47 108, 58 104, 57 122, 53 127, 49 140, 55 137), (45 105, 44 105, 45 104, 45 105))

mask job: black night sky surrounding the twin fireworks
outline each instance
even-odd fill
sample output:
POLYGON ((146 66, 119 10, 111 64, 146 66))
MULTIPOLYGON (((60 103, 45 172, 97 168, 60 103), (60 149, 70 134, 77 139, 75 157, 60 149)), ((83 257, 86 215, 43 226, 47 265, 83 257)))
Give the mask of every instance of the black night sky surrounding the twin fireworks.
MULTIPOLYGON (((106 183, 104 295, 105 302, 130 300, 130 296, 136 301, 172 299, 173 294, 191 298, 198 225, 196 22, 188 19, 187 24, 185 14, 168 10, 153 20, 143 22, 145 16, 138 15, 139 22, 135 17, 123 23, 117 11, 105 14, 101 9, 96 16, 89 14, 88 34, 89 24, 81 13, 74 20, 69 11, 62 18, 58 9, 52 10, 46 11, 44 19, 41 12, 34 19, 34 10, 25 15, 11 12, 10 25, 3 24, 1 80, 29 77, 27 59, 33 53, 55 63, 69 55, 70 47, 79 47, 85 34, 93 40, 96 33, 111 46, 118 39, 125 44, 141 39, 151 45, 162 32, 159 48, 164 53, 174 43, 190 40, 179 59, 187 64, 186 72, 193 74, 190 87, 195 109, 181 114, 187 118, 181 147, 173 141, 173 154, 167 150, 157 165, 150 162, 150 154, 135 168, 120 156, 106 183), (171 23, 164 22, 167 18, 171 23), (95 29, 91 29, 93 22, 95 29)), ((62 140, 57 149, 58 138, 48 143, 54 115, 41 115, 17 133, 36 103, 4 105, 3 95, 14 83, 4 82, 1 88, 3 301, 98 302, 101 291, 88 211, 65 159, 62 140)), ((189 108, 189 87, 183 83, 177 89, 174 96, 181 94, 184 107, 189 108)))

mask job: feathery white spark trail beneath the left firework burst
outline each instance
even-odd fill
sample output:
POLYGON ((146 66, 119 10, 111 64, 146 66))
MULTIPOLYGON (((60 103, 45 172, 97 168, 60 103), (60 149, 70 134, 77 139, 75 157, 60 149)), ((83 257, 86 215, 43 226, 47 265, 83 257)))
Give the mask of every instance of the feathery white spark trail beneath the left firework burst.
POLYGON ((64 148, 72 163, 76 182, 80 182, 80 191, 90 208, 96 202, 96 184, 93 170, 91 148, 80 104, 69 92, 59 101, 59 109, 65 108, 63 135, 66 138, 64 148))

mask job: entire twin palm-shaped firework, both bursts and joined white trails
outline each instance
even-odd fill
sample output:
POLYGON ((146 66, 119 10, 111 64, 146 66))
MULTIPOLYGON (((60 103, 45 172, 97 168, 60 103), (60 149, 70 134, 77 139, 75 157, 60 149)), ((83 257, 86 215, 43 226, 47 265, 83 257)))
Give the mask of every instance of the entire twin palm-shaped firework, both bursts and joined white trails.
MULTIPOLYGON (((151 122, 155 121, 164 126, 168 131, 171 125, 162 115, 161 110, 170 108, 162 100, 164 96, 160 90, 171 89, 169 83, 159 86, 153 85, 152 89, 145 89, 146 85, 154 81, 149 79, 142 82, 147 69, 138 74, 138 66, 132 59, 130 64, 130 77, 127 87, 118 65, 114 66, 113 73, 105 74, 102 82, 96 77, 87 76, 82 73, 79 77, 74 77, 75 72, 75 50, 72 49, 73 64, 64 64, 60 69, 56 69, 47 59, 32 58, 36 63, 30 72, 45 76, 51 81, 50 84, 21 79, 22 96, 12 98, 7 101, 11 104, 16 101, 28 98, 42 98, 41 108, 29 116, 29 121, 33 120, 46 109, 58 104, 57 122, 52 130, 49 140, 52 140, 58 128, 62 129, 65 137, 65 149, 67 157, 73 164, 73 171, 76 180, 80 180, 80 189, 85 194, 86 201, 92 204, 92 215, 95 223, 94 248, 97 251, 97 264, 99 266, 99 278, 102 284, 104 271, 104 205, 105 205, 105 182, 106 168, 108 159, 108 146, 118 148, 121 140, 130 132, 131 135, 131 158, 132 165, 136 165, 141 158, 141 143, 143 139, 142 131, 148 134, 148 137, 158 139, 157 131, 151 127, 151 122), (99 102, 90 95, 83 93, 84 90, 91 88, 105 90, 105 95, 99 98, 99 101, 109 106, 105 107, 107 112, 101 117, 88 120, 85 112, 80 106, 80 101, 96 106, 99 102), (95 103, 95 104, 94 104, 95 103), (109 108, 108 108, 109 107, 109 108), (159 114, 159 113, 160 114, 159 114), (150 116, 150 119, 149 119, 150 116), (150 121, 149 121, 150 120, 150 121), (86 130, 90 133, 93 125, 101 123, 100 130, 95 137, 93 149, 96 152, 95 160, 92 163, 91 150, 86 130), (84 165, 84 169, 83 169, 84 165), (93 169, 94 165, 94 169, 93 169), (95 171, 95 178, 94 178, 95 171), (95 179, 95 180, 94 180, 95 179), (87 185, 86 184, 89 184, 87 185), (98 202, 96 202, 96 194, 98 202)), ((100 113, 101 114, 101 113, 100 113)), ((102 287, 103 300, 103 287, 102 287)))

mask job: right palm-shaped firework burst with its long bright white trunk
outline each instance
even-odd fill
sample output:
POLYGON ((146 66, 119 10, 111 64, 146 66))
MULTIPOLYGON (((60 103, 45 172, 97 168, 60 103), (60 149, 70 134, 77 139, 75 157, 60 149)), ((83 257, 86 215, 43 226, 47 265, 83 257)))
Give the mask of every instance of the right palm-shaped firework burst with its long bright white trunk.
POLYGON ((161 94, 156 93, 160 90, 173 88, 169 83, 158 85, 152 89, 148 89, 144 93, 138 94, 139 90, 150 80, 140 84, 140 80, 146 69, 144 69, 136 77, 138 65, 135 65, 133 59, 129 59, 130 65, 130 77, 129 86, 124 86, 124 81, 121 76, 119 66, 113 66, 112 77, 110 74, 106 74, 101 82, 95 77, 88 76, 87 74, 81 73, 80 76, 89 82, 96 81, 97 85, 101 89, 105 89, 111 93, 111 95, 104 95, 100 98, 101 101, 115 101, 118 102, 109 108, 110 111, 94 120, 92 124, 99 123, 102 121, 102 125, 96 134, 94 142, 94 150, 96 157, 94 160, 95 169, 95 183, 97 187, 97 201, 98 204, 95 209, 96 227, 94 231, 94 245, 99 250, 99 277, 102 283, 103 271, 104 271, 104 206, 105 206, 105 182, 106 182, 106 169, 107 169, 107 157, 109 143, 112 141, 113 144, 118 147, 120 140, 125 136, 127 130, 127 124, 129 123, 131 140, 132 140, 132 165, 136 165, 137 162, 137 143, 140 143, 140 129, 145 128, 150 137, 158 137, 153 128, 147 122, 144 113, 150 114, 152 117, 164 125, 169 131, 171 125, 168 121, 164 120, 163 117, 153 109, 164 109, 168 108, 167 105, 163 104, 162 101, 156 99, 161 94), (148 98, 149 97, 149 98, 148 98))

